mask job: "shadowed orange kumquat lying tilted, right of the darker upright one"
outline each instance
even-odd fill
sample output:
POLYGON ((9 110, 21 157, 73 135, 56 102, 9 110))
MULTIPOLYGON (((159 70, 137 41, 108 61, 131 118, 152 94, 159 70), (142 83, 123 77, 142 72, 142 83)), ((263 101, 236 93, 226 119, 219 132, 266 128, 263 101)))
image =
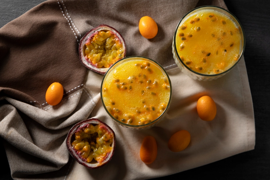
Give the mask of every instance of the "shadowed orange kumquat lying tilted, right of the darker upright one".
POLYGON ((179 152, 187 148, 190 142, 190 134, 186 130, 176 132, 171 136, 168 147, 173 152, 179 152))

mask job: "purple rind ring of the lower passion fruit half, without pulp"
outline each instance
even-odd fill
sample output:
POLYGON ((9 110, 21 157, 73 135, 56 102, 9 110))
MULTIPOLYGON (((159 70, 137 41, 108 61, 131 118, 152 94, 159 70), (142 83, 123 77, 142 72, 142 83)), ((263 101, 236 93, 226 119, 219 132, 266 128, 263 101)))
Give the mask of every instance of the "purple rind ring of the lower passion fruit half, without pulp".
POLYGON ((102 166, 104 166, 105 164, 107 164, 112 156, 114 155, 114 151, 115 151, 115 147, 116 147, 116 137, 115 137, 115 133, 114 131, 107 125, 105 124, 104 122, 100 121, 99 119, 96 119, 96 118, 91 118, 91 119, 87 119, 87 120, 84 120, 84 121, 81 121, 77 124, 75 124, 71 130, 69 131, 68 135, 67 135, 67 138, 66 138, 66 147, 69 151, 69 153, 71 154, 71 156, 81 165, 89 168, 89 169, 97 169, 97 168, 100 168, 102 166), (98 162, 90 162, 90 163, 87 163, 86 162, 86 159, 83 158, 80 153, 75 150, 72 145, 71 145, 71 138, 73 136, 73 134, 75 134, 75 132, 78 132, 80 131, 81 129, 84 129, 86 127, 89 127, 89 124, 96 124, 96 125, 100 125, 99 127, 100 128, 103 128, 105 129, 107 132, 109 132, 110 134, 113 135, 113 141, 111 143, 111 151, 108 152, 104 158, 104 161, 101 162, 101 163, 98 163, 98 162))

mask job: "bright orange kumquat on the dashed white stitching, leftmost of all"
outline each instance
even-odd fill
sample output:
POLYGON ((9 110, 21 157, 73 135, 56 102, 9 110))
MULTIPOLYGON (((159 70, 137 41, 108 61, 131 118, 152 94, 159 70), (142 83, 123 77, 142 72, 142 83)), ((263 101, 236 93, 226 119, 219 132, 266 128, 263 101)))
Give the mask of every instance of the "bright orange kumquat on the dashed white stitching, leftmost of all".
POLYGON ((60 83, 52 83, 46 91, 46 101, 49 105, 57 105, 63 98, 64 89, 60 83))

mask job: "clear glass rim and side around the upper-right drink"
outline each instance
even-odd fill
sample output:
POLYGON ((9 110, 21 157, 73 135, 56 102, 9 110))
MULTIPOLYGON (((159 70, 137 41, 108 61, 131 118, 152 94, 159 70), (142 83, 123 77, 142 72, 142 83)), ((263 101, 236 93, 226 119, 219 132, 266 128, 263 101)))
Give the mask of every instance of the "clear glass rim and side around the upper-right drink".
MULTIPOLYGON (((234 23, 235 23, 235 22, 234 22, 234 23)), ((237 25, 237 24, 236 24, 236 25, 237 25)), ((234 68, 234 66, 236 66, 236 64, 238 64, 239 60, 242 58, 242 56, 243 56, 243 54, 244 54, 244 50, 245 50, 245 46, 246 46, 246 37, 245 37, 245 33, 244 33, 244 30, 243 30, 243 27, 242 27, 240 21, 239 21, 239 20, 237 19, 237 17, 235 17, 235 15, 233 15, 230 11, 228 11, 228 10, 222 8, 222 7, 218 7, 218 6, 205 5, 205 6, 199 6, 199 7, 196 7, 196 8, 194 8, 194 9, 190 10, 189 12, 187 12, 187 13, 181 18, 181 20, 179 21, 179 23, 178 23, 177 26, 176 26, 176 30, 175 30, 175 33, 174 33, 174 36, 173 36, 173 46, 174 46, 174 51, 175 51, 175 54, 176 54, 176 56, 177 56, 177 59, 181 62, 181 64, 183 64, 183 65, 185 66, 185 68, 187 68, 187 70, 189 70, 189 71, 191 71, 192 73, 195 73, 196 75, 199 75, 199 76, 204 76, 204 77, 217 77, 217 76, 220 76, 220 75, 222 75, 222 74, 225 74, 225 73, 229 72, 230 70, 232 70, 232 69, 234 68), (222 72, 222 73, 218 73, 218 74, 213 74, 213 75, 208 75, 208 74, 198 73, 198 72, 193 71, 192 69, 190 69, 190 68, 189 68, 189 67, 181 60, 181 58, 180 58, 180 56, 179 56, 179 54, 178 54, 178 52, 177 52, 176 42, 175 42, 175 41, 176 41, 176 40, 175 40, 175 39, 176 39, 176 35, 177 35, 177 29, 178 29, 180 23, 183 21, 183 19, 184 19, 187 15, 189 15, 190 13, 192 13, 193 11, 195 11, 195 10, 197 10, 197 9, 201 9, 201 8, 206 8, 206 7, 213 7, 213 8, 221 9, 221 10, 223 10, 223 11, 229 13, 229 14, 236 20, 236 22, 239 24, 240 29, 241 29, 241 32, 242 32, 242 35, 243 35, 243 49, 242 49, 242 51, 241 51, 241 54, 240 54, 238 60, 234 63, 234 65, 233 65, 232 67, 230 67, 230 68, 227 69, 226 71, 224 71, 224 72, 222 72)))

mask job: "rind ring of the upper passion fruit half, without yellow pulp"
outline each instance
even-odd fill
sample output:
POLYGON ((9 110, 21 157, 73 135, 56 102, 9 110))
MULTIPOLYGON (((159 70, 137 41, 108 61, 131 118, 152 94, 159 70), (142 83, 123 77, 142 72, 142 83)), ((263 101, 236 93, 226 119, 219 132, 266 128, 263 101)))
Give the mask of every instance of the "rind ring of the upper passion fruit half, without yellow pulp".
MULTIPOLYGON (((122 37, 122 35, 113 27, 108 26, 106 24, 101 24, 99 26, 97 26, 96 28, 91 29, 89 32, 87 32, 83 38, 81 38, 80 40, 80 44, 79 44, 79 54, 80 54, 80 60, 81 63, 87 67, 88 69, 91 69, 92 71, 99 73, 99 74, 105 74, 107 72, 107 70, 109 69, 109 67, 105 68, 105 67, 97 67, 97 64, 93 64, 91 62, 91 60, 89 60, 87 58, 87 56, 85 55, 85 49, 86 49, 86 45, 87 43, 89 43, 93 37, 95 36, 95 34, 98 34, 100 31, 110 31, 111 34, 115 35, 116 40, 119 40, 119 43, 122 44, 122 48, 123 48, 123 57, 126 57, 126 42, 124 40, 124 38, 122 37)), ((118 60, 122 59, 119 58, 118 60)), ((113 63, 112 63, 113 64, 113 63)), ((111 66, 112 64, 109 64, 109 66, 111 66)))

